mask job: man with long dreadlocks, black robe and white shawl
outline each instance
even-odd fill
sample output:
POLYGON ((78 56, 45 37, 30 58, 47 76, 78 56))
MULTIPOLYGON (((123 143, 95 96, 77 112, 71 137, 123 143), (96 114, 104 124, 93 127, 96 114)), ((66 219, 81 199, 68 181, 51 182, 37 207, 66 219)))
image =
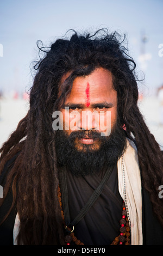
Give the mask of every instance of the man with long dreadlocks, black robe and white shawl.
POLYGON ((163 244, 162 153, 118 37, 74 32, 35 65, 28 114, 1 149, 2 244, 163 244))

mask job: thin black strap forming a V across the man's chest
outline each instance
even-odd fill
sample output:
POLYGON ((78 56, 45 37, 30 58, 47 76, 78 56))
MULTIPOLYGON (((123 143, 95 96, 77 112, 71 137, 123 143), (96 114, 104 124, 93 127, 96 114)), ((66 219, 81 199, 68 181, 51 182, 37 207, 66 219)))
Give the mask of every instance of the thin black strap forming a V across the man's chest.
POLYGON ((95 203, 99 195, 102 193, 103 188, 109 179, 110 174, 112 173, 112 170, 114 169, 114 166, 111 168, 107 168, 106 173, 100 182, 99 186, 96 188, 96 190, 92 193, 92 196, 87 201, 87 203, 84 205, 82 210, 80 210, 79 214, 76 218, 71 222, 70 220, 70 212, 68 208, 68 190, 67 190, 67 178, 66 178, 66 167, 62 168, 60 171, 60 185, 61 185, 61 192, 62 192, 62 205, 64 210, 64 217, 65 217, 65 224, 67 227, 73 227, 76 225, 82 218, 86 215, 86 213, 89 211, 91 206, 95 203))

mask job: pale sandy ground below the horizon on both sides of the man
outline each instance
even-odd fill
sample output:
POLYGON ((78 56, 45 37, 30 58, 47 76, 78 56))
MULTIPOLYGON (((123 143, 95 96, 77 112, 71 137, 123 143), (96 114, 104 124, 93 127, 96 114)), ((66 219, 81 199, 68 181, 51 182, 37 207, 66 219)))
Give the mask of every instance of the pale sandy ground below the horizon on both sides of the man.
MULTIPOLYGON (((156 97, 145 97, 139 103, 141 112, 149 130, 163 149, 163 125, 160 125, 159 101, 156 97)), ((0 146, 8 139, 10 133, 17 127, 18 122, 26 115, 29 108, 28 100, 0 100, 0 146)))

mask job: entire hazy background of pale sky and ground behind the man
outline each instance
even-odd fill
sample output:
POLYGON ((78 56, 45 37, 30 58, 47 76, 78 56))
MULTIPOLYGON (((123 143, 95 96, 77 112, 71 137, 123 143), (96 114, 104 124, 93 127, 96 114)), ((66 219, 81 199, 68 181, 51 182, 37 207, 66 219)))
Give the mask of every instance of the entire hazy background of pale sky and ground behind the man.
POLYGON ((126 34, 137 74, 139 78, 145 75, 139 83, 140 108, 163 145, 157 95, 163 84, 162 10, 162 0, 0 0, 0 145, 27 113, 25 92, 33 82, 30 67, 38 58, 36 41, 50 46, 68 29, 95 32, 103 27, 126 34))

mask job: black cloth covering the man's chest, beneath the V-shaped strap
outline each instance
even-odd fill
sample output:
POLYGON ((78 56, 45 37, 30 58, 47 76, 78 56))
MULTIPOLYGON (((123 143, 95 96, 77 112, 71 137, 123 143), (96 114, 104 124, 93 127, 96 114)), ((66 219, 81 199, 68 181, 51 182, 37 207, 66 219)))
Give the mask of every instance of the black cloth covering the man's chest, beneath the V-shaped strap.
MULTIPOLYGON (((91 205, 86 215, 74 226, 74 235, 84 245, 110 245, 120 234, 123 199, 118 192, 117 162, 114 167, 105 167, 93 175, 76 177, 68 170, 66 173, 68 208, 70 222, 72 222, 102 182, 106 170, 111 174, 106 180, 102 193, 91 205)), ((62 184, 60 187, 62 194, 62 184)))

